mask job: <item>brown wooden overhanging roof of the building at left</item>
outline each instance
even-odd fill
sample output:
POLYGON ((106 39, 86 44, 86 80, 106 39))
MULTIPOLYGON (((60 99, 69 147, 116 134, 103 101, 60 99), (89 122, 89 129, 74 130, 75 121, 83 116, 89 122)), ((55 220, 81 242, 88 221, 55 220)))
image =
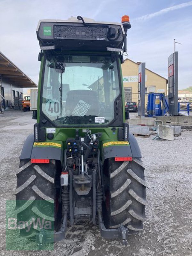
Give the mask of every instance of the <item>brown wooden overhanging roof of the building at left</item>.
POLYGON ((0 52, 0 76, 8 78, 10 83, 17 84, 20 88, 37 87, 16 65, 0 52))

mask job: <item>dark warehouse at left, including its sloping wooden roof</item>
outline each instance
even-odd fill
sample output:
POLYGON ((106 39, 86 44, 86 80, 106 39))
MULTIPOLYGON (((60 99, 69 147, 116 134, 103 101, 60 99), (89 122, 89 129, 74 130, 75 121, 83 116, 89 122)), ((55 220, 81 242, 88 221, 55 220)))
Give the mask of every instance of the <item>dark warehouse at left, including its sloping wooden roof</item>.
POLYGON ((23 98, 23 88, 37 85, 0 52, 0 108, 13 108, 15 98, 23 98))

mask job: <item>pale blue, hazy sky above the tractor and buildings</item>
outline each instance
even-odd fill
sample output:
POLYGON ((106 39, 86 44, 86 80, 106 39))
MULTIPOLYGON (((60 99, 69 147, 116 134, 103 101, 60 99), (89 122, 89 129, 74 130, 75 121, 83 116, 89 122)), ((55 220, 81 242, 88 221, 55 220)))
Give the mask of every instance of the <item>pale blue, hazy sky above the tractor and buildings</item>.
POLYGON ((167 78, 168 57, 179 52, 179 89, 192 86, 192 1, 187 0, 0 0, 0 51, 38 84, 39 20, 81 15, 121 22, 129 15, 128 58, 167 78))

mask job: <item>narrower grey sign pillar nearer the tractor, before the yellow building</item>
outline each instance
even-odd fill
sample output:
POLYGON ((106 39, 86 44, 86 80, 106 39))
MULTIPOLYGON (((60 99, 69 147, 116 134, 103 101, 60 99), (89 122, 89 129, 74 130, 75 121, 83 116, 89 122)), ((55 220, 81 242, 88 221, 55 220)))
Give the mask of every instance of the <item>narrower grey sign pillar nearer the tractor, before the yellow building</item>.
POLYGON ((138 116, 145 116, 145 62, 139 65, 138 116))

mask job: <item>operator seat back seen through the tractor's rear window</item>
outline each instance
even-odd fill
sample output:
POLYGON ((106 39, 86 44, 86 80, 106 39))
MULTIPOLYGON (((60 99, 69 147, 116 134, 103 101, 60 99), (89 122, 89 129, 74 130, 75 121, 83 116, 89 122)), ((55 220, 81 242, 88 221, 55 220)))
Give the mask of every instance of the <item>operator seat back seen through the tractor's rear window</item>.
POLYGON ((91 90, 72 90, 67 92, 67 116, 99 116, 98 93, 91 90))

